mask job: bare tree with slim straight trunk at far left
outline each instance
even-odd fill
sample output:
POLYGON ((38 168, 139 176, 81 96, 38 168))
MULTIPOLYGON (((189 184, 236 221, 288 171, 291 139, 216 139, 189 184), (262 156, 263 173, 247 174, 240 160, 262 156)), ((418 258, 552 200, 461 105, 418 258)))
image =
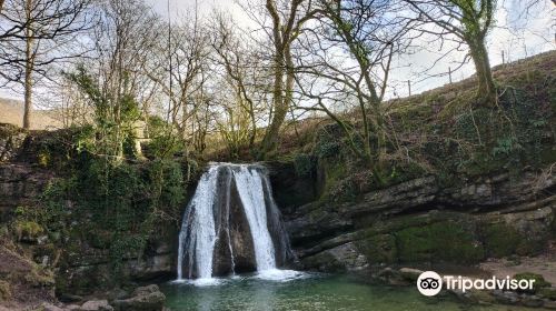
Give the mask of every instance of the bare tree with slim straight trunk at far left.
POLYGON ((91 0, 7 0, 0 14, 2 78, 19 82, 24 92, 23 128, 31 127, 32 92, 37 78, 52 63, 82 54, 66 49, 91 24, 91 0))

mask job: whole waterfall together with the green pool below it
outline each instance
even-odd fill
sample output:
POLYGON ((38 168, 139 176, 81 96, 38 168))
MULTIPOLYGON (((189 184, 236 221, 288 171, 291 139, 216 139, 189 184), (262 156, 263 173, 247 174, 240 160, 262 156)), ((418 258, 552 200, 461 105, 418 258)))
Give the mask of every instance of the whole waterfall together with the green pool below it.
POLYGON ((524 310, 426 298, 416 288, 369 285, 329 274, 279 270, 292 259, 272 198, 268 171, 258 164, 211 163, 183 213, 178 281, 162 284, 170 310, 358 311, 524 310), (236 274, 258 271, 251 274, 236 274), (236 274, 230 278, 217 275, 236 274))

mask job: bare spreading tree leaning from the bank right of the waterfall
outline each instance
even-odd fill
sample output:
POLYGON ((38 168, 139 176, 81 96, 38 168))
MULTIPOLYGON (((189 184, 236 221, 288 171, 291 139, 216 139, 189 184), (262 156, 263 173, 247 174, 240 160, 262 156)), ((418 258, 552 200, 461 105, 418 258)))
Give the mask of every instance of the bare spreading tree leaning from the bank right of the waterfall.
POLYGON ((297 81, 304 97, 344 131, 351 151, 383 180, 388 129, 383 104, 391 59, 409 43, 410 23, 396 18, 393 1, 346 0, 319 2, 322 16, 304 36, 297 81), (354 106, 357 117, 353 116, 354 106), (358 122, 363 124, 357 124, 358 122))

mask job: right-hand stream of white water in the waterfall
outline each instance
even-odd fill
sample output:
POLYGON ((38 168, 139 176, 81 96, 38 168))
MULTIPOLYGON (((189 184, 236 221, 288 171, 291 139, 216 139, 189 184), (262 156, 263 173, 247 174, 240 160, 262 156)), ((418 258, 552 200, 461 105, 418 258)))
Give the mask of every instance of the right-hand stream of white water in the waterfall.
POLYGON ((234 175, 251 229, 257 271, 276 269, 275 248, 268 232, 262 179, 258 171, 249 170, 247 167, 234 171, 234 175))

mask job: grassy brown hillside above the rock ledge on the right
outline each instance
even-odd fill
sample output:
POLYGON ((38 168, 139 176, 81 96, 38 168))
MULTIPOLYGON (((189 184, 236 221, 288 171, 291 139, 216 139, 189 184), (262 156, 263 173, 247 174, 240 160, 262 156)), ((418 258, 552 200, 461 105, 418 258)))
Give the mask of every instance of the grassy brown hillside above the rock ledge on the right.
MULTIPOLYGON (((493 109, 475 108, 470 77, 421 94, 385 103, 387 183, 375 184, 370 170, 353 154, 339 127, 328 118, 290 123, 277 160, 295 161, 300 171, 326 171, 324 197, 356 198, 423 174, 445 182, 556 163, 556 51, 494 68, 499 89, 493 109)), ((342 116, 356 127, 357 113, 342 116)))

